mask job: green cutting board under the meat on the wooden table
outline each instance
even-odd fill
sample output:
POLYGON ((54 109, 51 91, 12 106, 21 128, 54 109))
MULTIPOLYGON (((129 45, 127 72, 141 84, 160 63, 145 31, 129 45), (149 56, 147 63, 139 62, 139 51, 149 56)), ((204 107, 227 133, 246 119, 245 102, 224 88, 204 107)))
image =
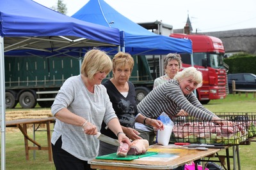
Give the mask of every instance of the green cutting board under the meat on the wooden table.
POLYGON ((111 153, 108 155, 102 155, 99 157, 96 157, 96 159, 108 159, 108 160, 134 160, 134 159, 139 159, 142 157, 148 157, 150 155, 155 155, 157 152, 146 152, 141 155, 127 155, 127 157, 120 157, 116 155, 116 153, 111 153))

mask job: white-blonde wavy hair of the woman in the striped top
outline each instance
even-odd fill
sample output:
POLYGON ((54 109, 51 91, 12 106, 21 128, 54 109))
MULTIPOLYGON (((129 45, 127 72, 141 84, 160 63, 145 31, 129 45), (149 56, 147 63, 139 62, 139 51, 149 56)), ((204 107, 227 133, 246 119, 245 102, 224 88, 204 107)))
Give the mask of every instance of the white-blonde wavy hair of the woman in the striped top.
POLYGON ((173 79, 180 81, 184 78, 188 78, 189 76, 192 76, 193 81, 196 81, 196 83, 198 83, 196 89, 202 86, 203 74, 201 71, 198 71, 195 67, 187 67, 183 69, 182 71, 178 72, 173 79))

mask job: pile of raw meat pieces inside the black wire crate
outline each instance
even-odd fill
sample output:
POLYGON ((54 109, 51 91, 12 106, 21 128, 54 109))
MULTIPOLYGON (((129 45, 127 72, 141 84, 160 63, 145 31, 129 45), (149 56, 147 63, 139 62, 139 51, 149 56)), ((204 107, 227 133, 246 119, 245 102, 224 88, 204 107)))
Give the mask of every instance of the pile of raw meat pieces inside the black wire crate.
POLYGON ((238 144, 246 138, 246 126, 250 124, 249 121, 238 120, 230 126, 213 122, 178 122, 172 129, 174 135, 172 138, 175 141, 189 143, 238 144))

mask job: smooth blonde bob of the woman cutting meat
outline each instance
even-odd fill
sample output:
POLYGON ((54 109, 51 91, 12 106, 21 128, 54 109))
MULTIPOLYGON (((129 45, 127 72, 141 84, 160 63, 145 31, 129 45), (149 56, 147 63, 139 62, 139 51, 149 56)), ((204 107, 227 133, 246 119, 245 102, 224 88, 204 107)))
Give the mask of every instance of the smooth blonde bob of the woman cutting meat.
POLYGON ((106 52, 93 49, 84 55, 81 74, 92 80, 94 74, 99 73, 100 71, 108 74, 111 71, 111 68, 112 62, 106 52))

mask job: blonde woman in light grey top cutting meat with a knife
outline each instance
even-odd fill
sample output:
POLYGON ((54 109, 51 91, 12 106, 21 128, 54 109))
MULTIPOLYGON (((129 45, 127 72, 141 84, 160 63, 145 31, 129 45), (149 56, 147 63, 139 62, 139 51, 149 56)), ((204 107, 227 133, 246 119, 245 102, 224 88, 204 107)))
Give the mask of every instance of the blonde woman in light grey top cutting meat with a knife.
POLYGON ((105 52, 90 50, 84 55, 81 74, 68 78, 59 90, 51 108, 57 118, 51 139, 56 169, 91 169, 87 161, 98 154, 99 139, 93 135, 102 121, 120 143, 131 145, 101 85, 111 67, 105 52))

